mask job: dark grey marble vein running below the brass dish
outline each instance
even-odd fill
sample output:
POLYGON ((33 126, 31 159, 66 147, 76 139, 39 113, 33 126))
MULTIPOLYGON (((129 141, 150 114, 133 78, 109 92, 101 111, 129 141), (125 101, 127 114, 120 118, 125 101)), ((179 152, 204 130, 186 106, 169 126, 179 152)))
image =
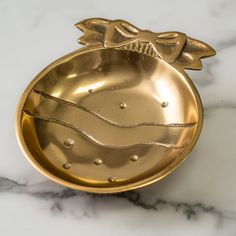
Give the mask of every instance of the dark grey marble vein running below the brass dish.
POLYGON ((47 191, 47 190, 37 190, 35 189, 36 186, 34 185, 27 185, 21 184, 14 180, 0 177, 0 192, 11 192, 14 194, 27 194, 31 195, 32 197, 41 198, 45 200, 54 200, 51 210, 61 212, 63 208, 61 207, 60 201, 70 199, 73 197, 81 197, 87 196, 92 199, 110 199, 110 198, 118 198, 128 201, 130 204, 136 207, 140 207, 144 210, 152 210, 156 212, 160 212, 162 210, 172 210, 175 212, 179 212, 183 214, 186 219, 196 219, 201 214, 209 214, 215 216, 219 222, 224 220, 224 218, 232 218, 232 220, 236 221, 236 215, 229 217, 225 215, 223 212, 215 208, 211 205, 206 205, 204 203, 189 203, 189 202, 176 202, 176 201, 169 201, 164 200, 161 198, 157 198, 152 203, 146 202, 142 199, 141 193, 138 191, 129 191, 124 193, 117 193, 117 194, 91 194, 91 193, 84 193, 81 191, 76 191, 68 188, 62 188, 58 191, 47 191))

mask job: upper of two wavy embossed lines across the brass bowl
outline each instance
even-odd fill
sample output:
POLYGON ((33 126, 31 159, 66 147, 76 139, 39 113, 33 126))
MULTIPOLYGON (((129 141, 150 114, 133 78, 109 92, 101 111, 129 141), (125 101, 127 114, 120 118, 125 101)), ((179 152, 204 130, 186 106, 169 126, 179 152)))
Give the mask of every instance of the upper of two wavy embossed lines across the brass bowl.
POLYGON ((136 123, 136 124, 131 124, 131 125, 125 125, 125 124, 119 124, 119 123, 116 123, 114 121, 111 121, 101 115, 99 115, 98 113, 94 112, 94 111, 91 111, 90 109, 88 109, 87 107, 84 107, 82 105, 79 105, 79 104, 75 104, 73 102, 69 102, 69 101, 66 101, 66 100, 63 100, 61 98, 57 98, 57 97, 54 97, 54 96, 51 96, 47 93, 44 93, 42 91, 38 91, 38 90, 34 90, 34 92, 40 94, 41 96, 45 97, 45 98, 48 98, 48 99, 51 99, 55 102, 58 102, 58 103, 61 103, 61 104, 64 104, 64 105, 68 105, 68 106, 73 106, 73 107, 76 107, 78 109, 81 109, 85 112, 88 112, 94 116, 96 116, 97 118, 111 124, 111 125, 114 125, 114 126, 117 126, 117 127, 120 127, 120 128, 134 128, 134 127, 137 127, 137 126, 163 126, 163 127, 172 127, 172 128, 191 128, 193 127, 194 125, 196 125, 196 123, 192 122, 192 123, 169 123, 169 124, 164 124, 164 123, 157 123, 157 122, 152 122, 152 121, 147 121, 147 122, 141 122, 141 123, 136 123))

